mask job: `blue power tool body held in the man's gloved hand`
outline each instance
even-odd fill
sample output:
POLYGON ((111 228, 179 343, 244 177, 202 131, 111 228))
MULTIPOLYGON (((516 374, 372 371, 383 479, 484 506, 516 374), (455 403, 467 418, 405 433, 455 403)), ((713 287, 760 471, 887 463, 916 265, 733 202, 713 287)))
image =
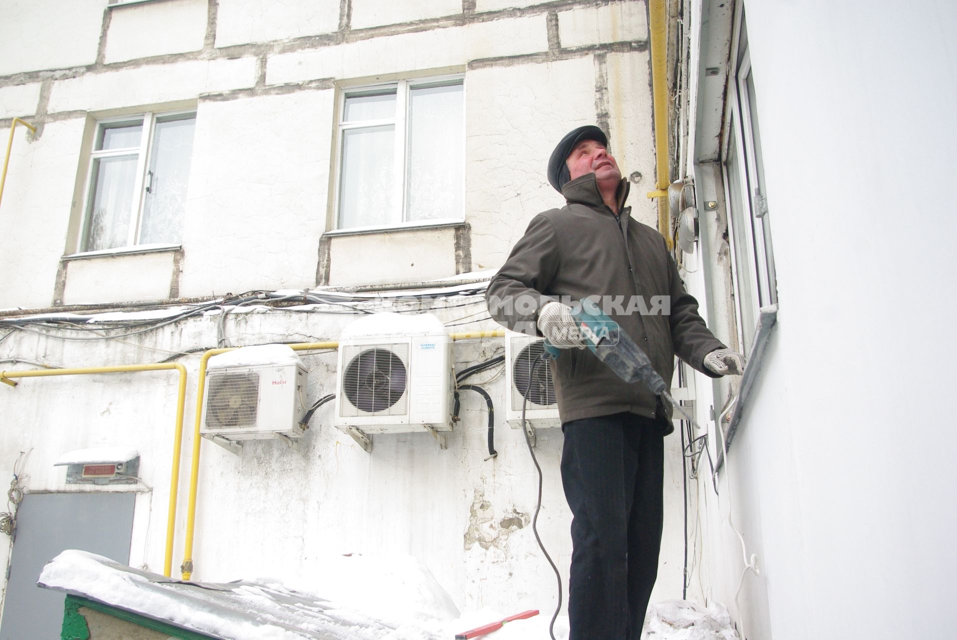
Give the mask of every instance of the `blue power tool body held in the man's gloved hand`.
MULTIPOLYGON (((669 397, 668 386, 657 374, 648 355, 594 301, 588 298, 579 301, 572 307, 571 317, 578 323, 578 330, 591 353, 607 364, 619 378, 626 383, 640 382, 656 395, 669 397)), ((561 352, 562 349, 545 341, 548 358, 558 360, 561 352)))

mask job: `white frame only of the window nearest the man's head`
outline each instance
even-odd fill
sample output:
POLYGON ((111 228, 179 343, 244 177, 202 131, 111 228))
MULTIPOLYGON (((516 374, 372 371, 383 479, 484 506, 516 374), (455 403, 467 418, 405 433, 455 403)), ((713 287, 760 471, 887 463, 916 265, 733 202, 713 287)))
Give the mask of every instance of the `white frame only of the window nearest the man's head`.
MULTIPOLYGON (((408 148, 406 146, 406 137, 409 129, 409 94, 412 89, 421 87, 437 87, 460 84, 462 86, 462 140, 465 140, 465 76, 462 74, 453 74, 448 76, 418 77, 412 79, 392 80, 389 82, 379 82, 376 84, 363 84, 357 86, 344 87, 339 92, 339 122, 336 141, 336 175, 335 186, 333 189, 333 230, 334 232, 368 232, 386 229, 403 229, 409 227, 434 227, 439 225, 448 225, 460 223, 465 220, 464 201, 460 215, 451 218, 432 218, 429 220, 410 221, 408 220, 408 210, 406 202, 406 159, 408 157, 408 148), (374 94, 383 89, 395 88, 395 117, 384 118, 380 120, 367 121, 343 121, 345 118, 345 99, 349 97, 374 94), (340 189, 343 179, 343 144, 345 143, 345 131, 349 129, 359 129, 372 126, 381 126, 387 124, 395 125, 395 141, 393 143, 393 175, 396 177, 395 184, 392 186, 392 215, 391 222, 386 225, 368 225, 356 227, 341 227, 340 220, 340 189), (401 125, 401 126, 400 126, 401 125)), ((462 144, 462 170, 465 170, 465 145, 462 144)), ((464 175, 464 174, 463 174, 464 175)))

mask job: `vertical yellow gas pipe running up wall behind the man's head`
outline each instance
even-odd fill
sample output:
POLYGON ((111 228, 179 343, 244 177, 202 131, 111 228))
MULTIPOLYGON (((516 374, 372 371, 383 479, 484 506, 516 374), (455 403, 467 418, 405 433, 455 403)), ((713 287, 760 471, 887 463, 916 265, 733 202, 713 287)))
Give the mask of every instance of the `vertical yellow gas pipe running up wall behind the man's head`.
POLYGON ((670 251, 674 247, 668 215, 668 185, 671 184, 671 165, 668 153, 668 9, 665 0, 649 0, 649 31, 652 40, 652 99, 655 104, 655 165, 657 190, 649 191, 649 198, 658 199, 658 231, 670 251))

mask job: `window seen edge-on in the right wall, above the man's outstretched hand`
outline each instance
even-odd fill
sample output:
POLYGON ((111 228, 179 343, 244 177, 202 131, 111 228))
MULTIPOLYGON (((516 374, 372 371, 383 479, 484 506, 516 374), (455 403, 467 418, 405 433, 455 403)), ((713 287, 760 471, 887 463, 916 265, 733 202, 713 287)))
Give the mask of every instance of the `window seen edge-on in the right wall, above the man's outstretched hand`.
POLYGON ((771 252, 761 136, 755 109, 754 78, 741 20, 736 65, 729 81, 723 150, 732 279, 742 350, 749 355, 758 328, 759 309, 777 302, 771 252))

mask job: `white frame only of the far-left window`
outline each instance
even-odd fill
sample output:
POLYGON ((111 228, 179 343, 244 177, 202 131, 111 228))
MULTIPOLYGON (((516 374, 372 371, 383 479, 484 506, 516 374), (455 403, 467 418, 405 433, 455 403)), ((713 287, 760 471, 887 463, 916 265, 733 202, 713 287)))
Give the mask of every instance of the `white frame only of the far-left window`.
MULTIPOLYGON (((86 186, 83 189, 83 215, 80 222, 80 233, 77 245, 76 254, 122 254, 128 253, 130 251, 146 251, 149 249, 161 248, 161 247, 179 247, 179 244, 175 245, 141 245, 138 244, 140 237, 140 225, 143 222, 143 209, 145 207, 146 200, 146 190, 147 187, 146 180, 146 169, 149 166, 149 157, 153 150, 153 135, 156 128, 157 119, 166 119, 166 118, 176 118, 177 116, 192 116, 196 117, 195 109, 179 109, 176 111, 163 111, 163 112, 154 112, 147 111, 145 113, 131 114, 128 116, 117 116, 115 118, 102 118, 97 121, 97 130, 93 135, 93 146, 90 149, 90 160, 87 168, 86 175, 86 186), (117 124, 120 122, 129 122, 135 123, 137 121, 143 121, 143 131, 140 134, 140 144, 138 146, 128 146, 121 149, 108 149, 108 150, 97 150, 97 141, 100 140, 100 132, 102 131, 104 125, 117 124), (92 199, 96 197, 96 193, 93 189, 94 182, 94 170, 97 166, 96 160, 100 158, 110 158, 117 156, 129 156, 133 153, 137 153, 137 165, 136 165, 136 182, 133 186, 134 193, 134 202, 137 203, 136 211, 134 212, 134 220, 131 221, 129 226, 129 236, 127 242, 122 247, 114 247, 111 249, 100 249, 100 250, 87 250, 87 242, 89 240, 89 230, 92 217, 92 199)), ((185 120, 185 119, 184 119, 185 120)))

